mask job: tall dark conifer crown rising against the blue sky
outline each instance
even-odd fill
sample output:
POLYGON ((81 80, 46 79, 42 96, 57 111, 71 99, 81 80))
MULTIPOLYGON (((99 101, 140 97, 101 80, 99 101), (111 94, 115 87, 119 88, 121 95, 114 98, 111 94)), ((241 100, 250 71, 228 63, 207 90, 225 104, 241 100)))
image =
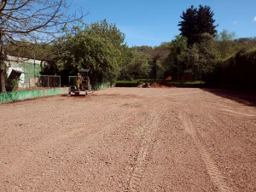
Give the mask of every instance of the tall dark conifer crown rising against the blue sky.
POLYGON ((213 15, 211 8, 207 5, 204 7, 200 5, 199 9, 192 5, 186 12, 183 12, 180 16, 183 20, 177 26, 180 26, 180 34, 188 38, 189 46, 199 43, 203 33, 215 35, 217 26, 214 26, 213 15))

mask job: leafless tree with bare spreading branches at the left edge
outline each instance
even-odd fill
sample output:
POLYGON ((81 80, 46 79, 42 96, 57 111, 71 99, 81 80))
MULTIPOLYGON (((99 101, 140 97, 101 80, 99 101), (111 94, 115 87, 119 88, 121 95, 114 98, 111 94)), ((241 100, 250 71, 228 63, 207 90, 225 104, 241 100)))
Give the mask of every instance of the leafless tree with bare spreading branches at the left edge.
POLYGON ((66 15, 65 0, 2 0, 0 3, 0 92, 5 92, 4 45, 49 41, 63 26, 80 20, 66 15), (50 38, 51 37, 51 38, 50 38))

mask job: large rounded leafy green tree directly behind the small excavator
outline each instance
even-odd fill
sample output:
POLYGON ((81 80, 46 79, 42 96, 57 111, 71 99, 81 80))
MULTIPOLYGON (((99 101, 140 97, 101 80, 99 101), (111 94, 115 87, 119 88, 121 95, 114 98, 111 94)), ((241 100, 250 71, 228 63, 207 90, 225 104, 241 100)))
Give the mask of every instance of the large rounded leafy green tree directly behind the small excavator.
POLYGON ((92 83, 113 83, 124 62, 124 38, 124 33, 106 20, 84 28, 75 26, 55 41, 55 61, 60 70, 73 74, 89 68, 92 83))

